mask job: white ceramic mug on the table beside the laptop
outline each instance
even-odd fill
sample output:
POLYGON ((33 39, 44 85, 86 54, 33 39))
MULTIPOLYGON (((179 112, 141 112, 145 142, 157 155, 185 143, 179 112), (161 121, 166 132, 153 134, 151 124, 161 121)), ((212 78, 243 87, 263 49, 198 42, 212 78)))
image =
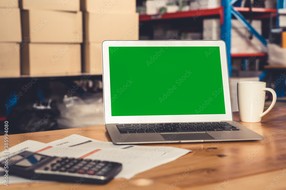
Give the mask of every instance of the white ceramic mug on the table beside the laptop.
POLYGON ((237 100, 240 120, 243 122, 260 122, 275 105, 277 95, 271 88, 266 88, 265 82, 244 81, 237 83, 237 100), (270 91, 273 101, 270 107, 263 112, 265 91, 270 91))

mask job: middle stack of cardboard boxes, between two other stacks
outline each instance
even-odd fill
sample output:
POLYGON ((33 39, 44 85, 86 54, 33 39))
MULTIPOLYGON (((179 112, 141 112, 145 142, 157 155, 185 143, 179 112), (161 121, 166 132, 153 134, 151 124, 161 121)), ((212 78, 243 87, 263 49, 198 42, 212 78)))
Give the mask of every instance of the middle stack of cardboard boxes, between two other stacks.
POLYGON ((20 1, 22 74, 81 72, 83 42, 79 0, 20 1))

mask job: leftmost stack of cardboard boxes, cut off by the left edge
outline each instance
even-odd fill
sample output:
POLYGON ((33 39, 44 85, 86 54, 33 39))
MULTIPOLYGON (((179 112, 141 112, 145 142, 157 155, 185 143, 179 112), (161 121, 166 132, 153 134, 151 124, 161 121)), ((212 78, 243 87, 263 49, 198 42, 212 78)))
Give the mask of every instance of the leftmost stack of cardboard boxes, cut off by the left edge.
POLYGON ((0 77, 20 75, 21 18, 18 1, 0 1, 0 77))

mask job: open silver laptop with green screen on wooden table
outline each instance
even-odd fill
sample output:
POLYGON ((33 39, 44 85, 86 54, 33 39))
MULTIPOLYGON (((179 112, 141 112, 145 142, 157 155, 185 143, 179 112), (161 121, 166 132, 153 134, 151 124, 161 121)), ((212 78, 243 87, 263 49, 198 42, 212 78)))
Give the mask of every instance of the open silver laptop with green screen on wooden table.
POLYGON ((233 121, 222 40, 104 41, 102 61, 114 144, 264 139, 233 121))

